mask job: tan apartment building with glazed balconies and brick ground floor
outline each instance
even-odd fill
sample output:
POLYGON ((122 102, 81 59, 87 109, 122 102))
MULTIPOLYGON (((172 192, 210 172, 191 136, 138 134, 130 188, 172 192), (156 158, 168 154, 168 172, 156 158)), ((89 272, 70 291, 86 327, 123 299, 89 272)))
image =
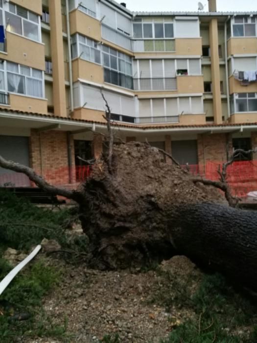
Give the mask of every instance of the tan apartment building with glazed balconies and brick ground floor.
POLYGON ((182 164, 257 147, 257 12, 220 13, 216 0, 185 13, 0 0, 0 25, 0 154, 50 182, 73 183, 76 156, 101 153, 101 92, 118 137, 147 139, 182 164))

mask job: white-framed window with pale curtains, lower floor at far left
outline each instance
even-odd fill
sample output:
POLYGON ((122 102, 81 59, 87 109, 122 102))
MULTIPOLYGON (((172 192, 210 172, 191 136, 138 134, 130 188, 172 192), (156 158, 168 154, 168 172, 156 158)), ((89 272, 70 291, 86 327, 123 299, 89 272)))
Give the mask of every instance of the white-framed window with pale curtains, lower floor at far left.
POLYGON ((6 71, 8 92, 43 98, 42 71, 8 61, 6 71))

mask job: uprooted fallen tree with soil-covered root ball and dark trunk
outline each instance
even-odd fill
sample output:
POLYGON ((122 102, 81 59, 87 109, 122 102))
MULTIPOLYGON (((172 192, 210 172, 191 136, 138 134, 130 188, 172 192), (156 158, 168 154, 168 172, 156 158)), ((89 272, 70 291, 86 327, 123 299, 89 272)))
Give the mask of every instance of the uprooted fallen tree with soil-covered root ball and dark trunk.
POLYGON ((107 156, 75 191, 53 187, 2 157, 0 166, 78 203, 93 267, 140 267, 179 252, 257 289, 255 212, 229 207, 220 191, 168 165, 146 143, 114 145, 111 165, 107 156))

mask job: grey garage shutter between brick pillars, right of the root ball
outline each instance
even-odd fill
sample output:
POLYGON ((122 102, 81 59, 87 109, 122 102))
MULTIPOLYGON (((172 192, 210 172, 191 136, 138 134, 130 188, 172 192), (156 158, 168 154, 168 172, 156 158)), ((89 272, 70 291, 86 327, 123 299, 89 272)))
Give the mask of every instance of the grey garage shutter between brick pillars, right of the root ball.
POLYGON ((181 164, 196 165, 198 164, 197 141, 172 141, 172 156, 181 164))

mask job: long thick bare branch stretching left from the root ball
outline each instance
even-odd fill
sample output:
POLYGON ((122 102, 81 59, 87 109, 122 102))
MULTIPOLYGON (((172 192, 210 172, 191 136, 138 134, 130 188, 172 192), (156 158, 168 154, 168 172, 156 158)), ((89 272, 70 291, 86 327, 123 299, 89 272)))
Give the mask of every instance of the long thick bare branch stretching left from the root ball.
POLYGON ((2 156, 0 156, 0 167, 9 169, 14 172, 21 172, 27 175, 27 177, 33 181, 38 187, 44 189, 49 194, 52 194, 54 196, 64 196, 69 199, 73 199, 77 202, 79 202, 79 199, 81 198, 81 194, 77 191, 70 191, 66 188, 59 188, 50 185, 45 181, 41 176, 37 175, 33 169, 23 166, 20 163, 15 163, 13 161, 7 161, 2 156))

